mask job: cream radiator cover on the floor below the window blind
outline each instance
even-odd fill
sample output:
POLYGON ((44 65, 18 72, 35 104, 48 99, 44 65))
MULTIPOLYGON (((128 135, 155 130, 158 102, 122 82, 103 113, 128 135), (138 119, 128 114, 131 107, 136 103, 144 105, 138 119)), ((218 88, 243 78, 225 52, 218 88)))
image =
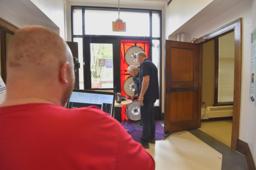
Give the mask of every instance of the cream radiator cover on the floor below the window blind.
POLYGON ((233 116, 233 106, 215 106, 207 107, 206 109, 204 107, 201 108, 201 118, 203 119, 229 116, 233 116))

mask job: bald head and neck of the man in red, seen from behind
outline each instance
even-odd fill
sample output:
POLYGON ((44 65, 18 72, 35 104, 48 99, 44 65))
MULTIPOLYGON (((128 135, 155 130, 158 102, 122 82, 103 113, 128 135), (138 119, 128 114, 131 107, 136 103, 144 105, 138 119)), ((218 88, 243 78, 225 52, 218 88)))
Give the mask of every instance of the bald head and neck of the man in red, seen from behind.
POLYGON ((55 101, 49 103, 63 105, 59 96, 67 98, 66 91, 72 90, 73 84, 73 56, 59 35, 40 26, 15 33, 7 51, 6 101, 40 96, 48 100, 52 94, 55 101))

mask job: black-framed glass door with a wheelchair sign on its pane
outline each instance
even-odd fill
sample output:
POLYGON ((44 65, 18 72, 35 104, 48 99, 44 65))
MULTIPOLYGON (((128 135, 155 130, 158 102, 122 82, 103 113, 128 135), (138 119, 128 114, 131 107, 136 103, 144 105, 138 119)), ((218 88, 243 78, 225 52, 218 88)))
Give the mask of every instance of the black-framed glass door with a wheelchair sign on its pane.
POLYGON ((84 89, 113 92, 120 79, 117 38, 84 38, 84 89))

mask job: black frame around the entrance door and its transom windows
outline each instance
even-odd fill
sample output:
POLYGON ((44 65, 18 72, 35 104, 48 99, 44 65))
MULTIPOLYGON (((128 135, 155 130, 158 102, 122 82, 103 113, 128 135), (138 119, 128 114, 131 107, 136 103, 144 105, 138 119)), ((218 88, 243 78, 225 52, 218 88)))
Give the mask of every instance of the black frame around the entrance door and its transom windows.
MULTIPOLYGON (((110 10, 110 11, 118 11, 117 7, 95 7, 95 6, 77 6, 77 5, 71 5, 71 41, 73 42, 74 38, 83 38, 83 65, 86 62, 85 54, 86 54, 86 46, 85 46, 85 39, 90 38, 91 35, 85 35, 85 21, 84 21, 84 13, 85 9, 90 10, 110 10), (82 9, 82 35, 74 35, 74 21, 73 21, 73 12, 74 9, 82 9)), ((149 20, 150 20, 150 36, 149 37, 139 37, 139 36, 117 36, 117 35, 97 35, 97 38, 116 38, 117 42, 119 43, 119 39, 137 39, 137 40, 149 40, 150 41, 150 61, 152 61, 152 40, 159 40, 159 93, 160 93, 160 99, 159 99, 159 106, 160 107, 160 113, 162 113, 162 10, 153 10, 153 9, 140 9, 140 8, 119 8, 120 11, 125 12, 149 12, 149 20), (152 37, 152 13, 159 13, 159 37, 152 37)), ((113 21, 115 19, 113 18, 113 21)), ((94 35, 96 36, 96 35, 94 35)), ((120 54, 120 46, 117 46, 118 50, 117 53, 120 54)), ((88 73, 87 73, 88 74, 88 73)), ((84 69, 84 89, 91 89, 86 86, 86 73, 84 69)), ((115 78, 115 77, 114 77, 115 78)), ((121 90, 120 86, 120 75, 118 77, 118 83, 117 83, 117 90, 121 90)), ((87 83, 88 84, 88 83, 87 83)), ((114 90, 114 88, 109 89, 93 89, 93 90, 114 90)), ((162 117, 159 116, 159 119, 162 120, 162 117)))

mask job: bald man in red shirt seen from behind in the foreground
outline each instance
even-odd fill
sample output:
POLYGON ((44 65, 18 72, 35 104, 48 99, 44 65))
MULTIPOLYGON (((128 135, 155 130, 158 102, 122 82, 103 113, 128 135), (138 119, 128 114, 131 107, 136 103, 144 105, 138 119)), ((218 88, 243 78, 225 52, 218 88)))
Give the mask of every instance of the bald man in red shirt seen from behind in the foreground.
POLYGON ((150 154, 97 107, 66 109, 71 51, 47 28, 13 37, 0 107, 0 169, 155 169, 150 154))

